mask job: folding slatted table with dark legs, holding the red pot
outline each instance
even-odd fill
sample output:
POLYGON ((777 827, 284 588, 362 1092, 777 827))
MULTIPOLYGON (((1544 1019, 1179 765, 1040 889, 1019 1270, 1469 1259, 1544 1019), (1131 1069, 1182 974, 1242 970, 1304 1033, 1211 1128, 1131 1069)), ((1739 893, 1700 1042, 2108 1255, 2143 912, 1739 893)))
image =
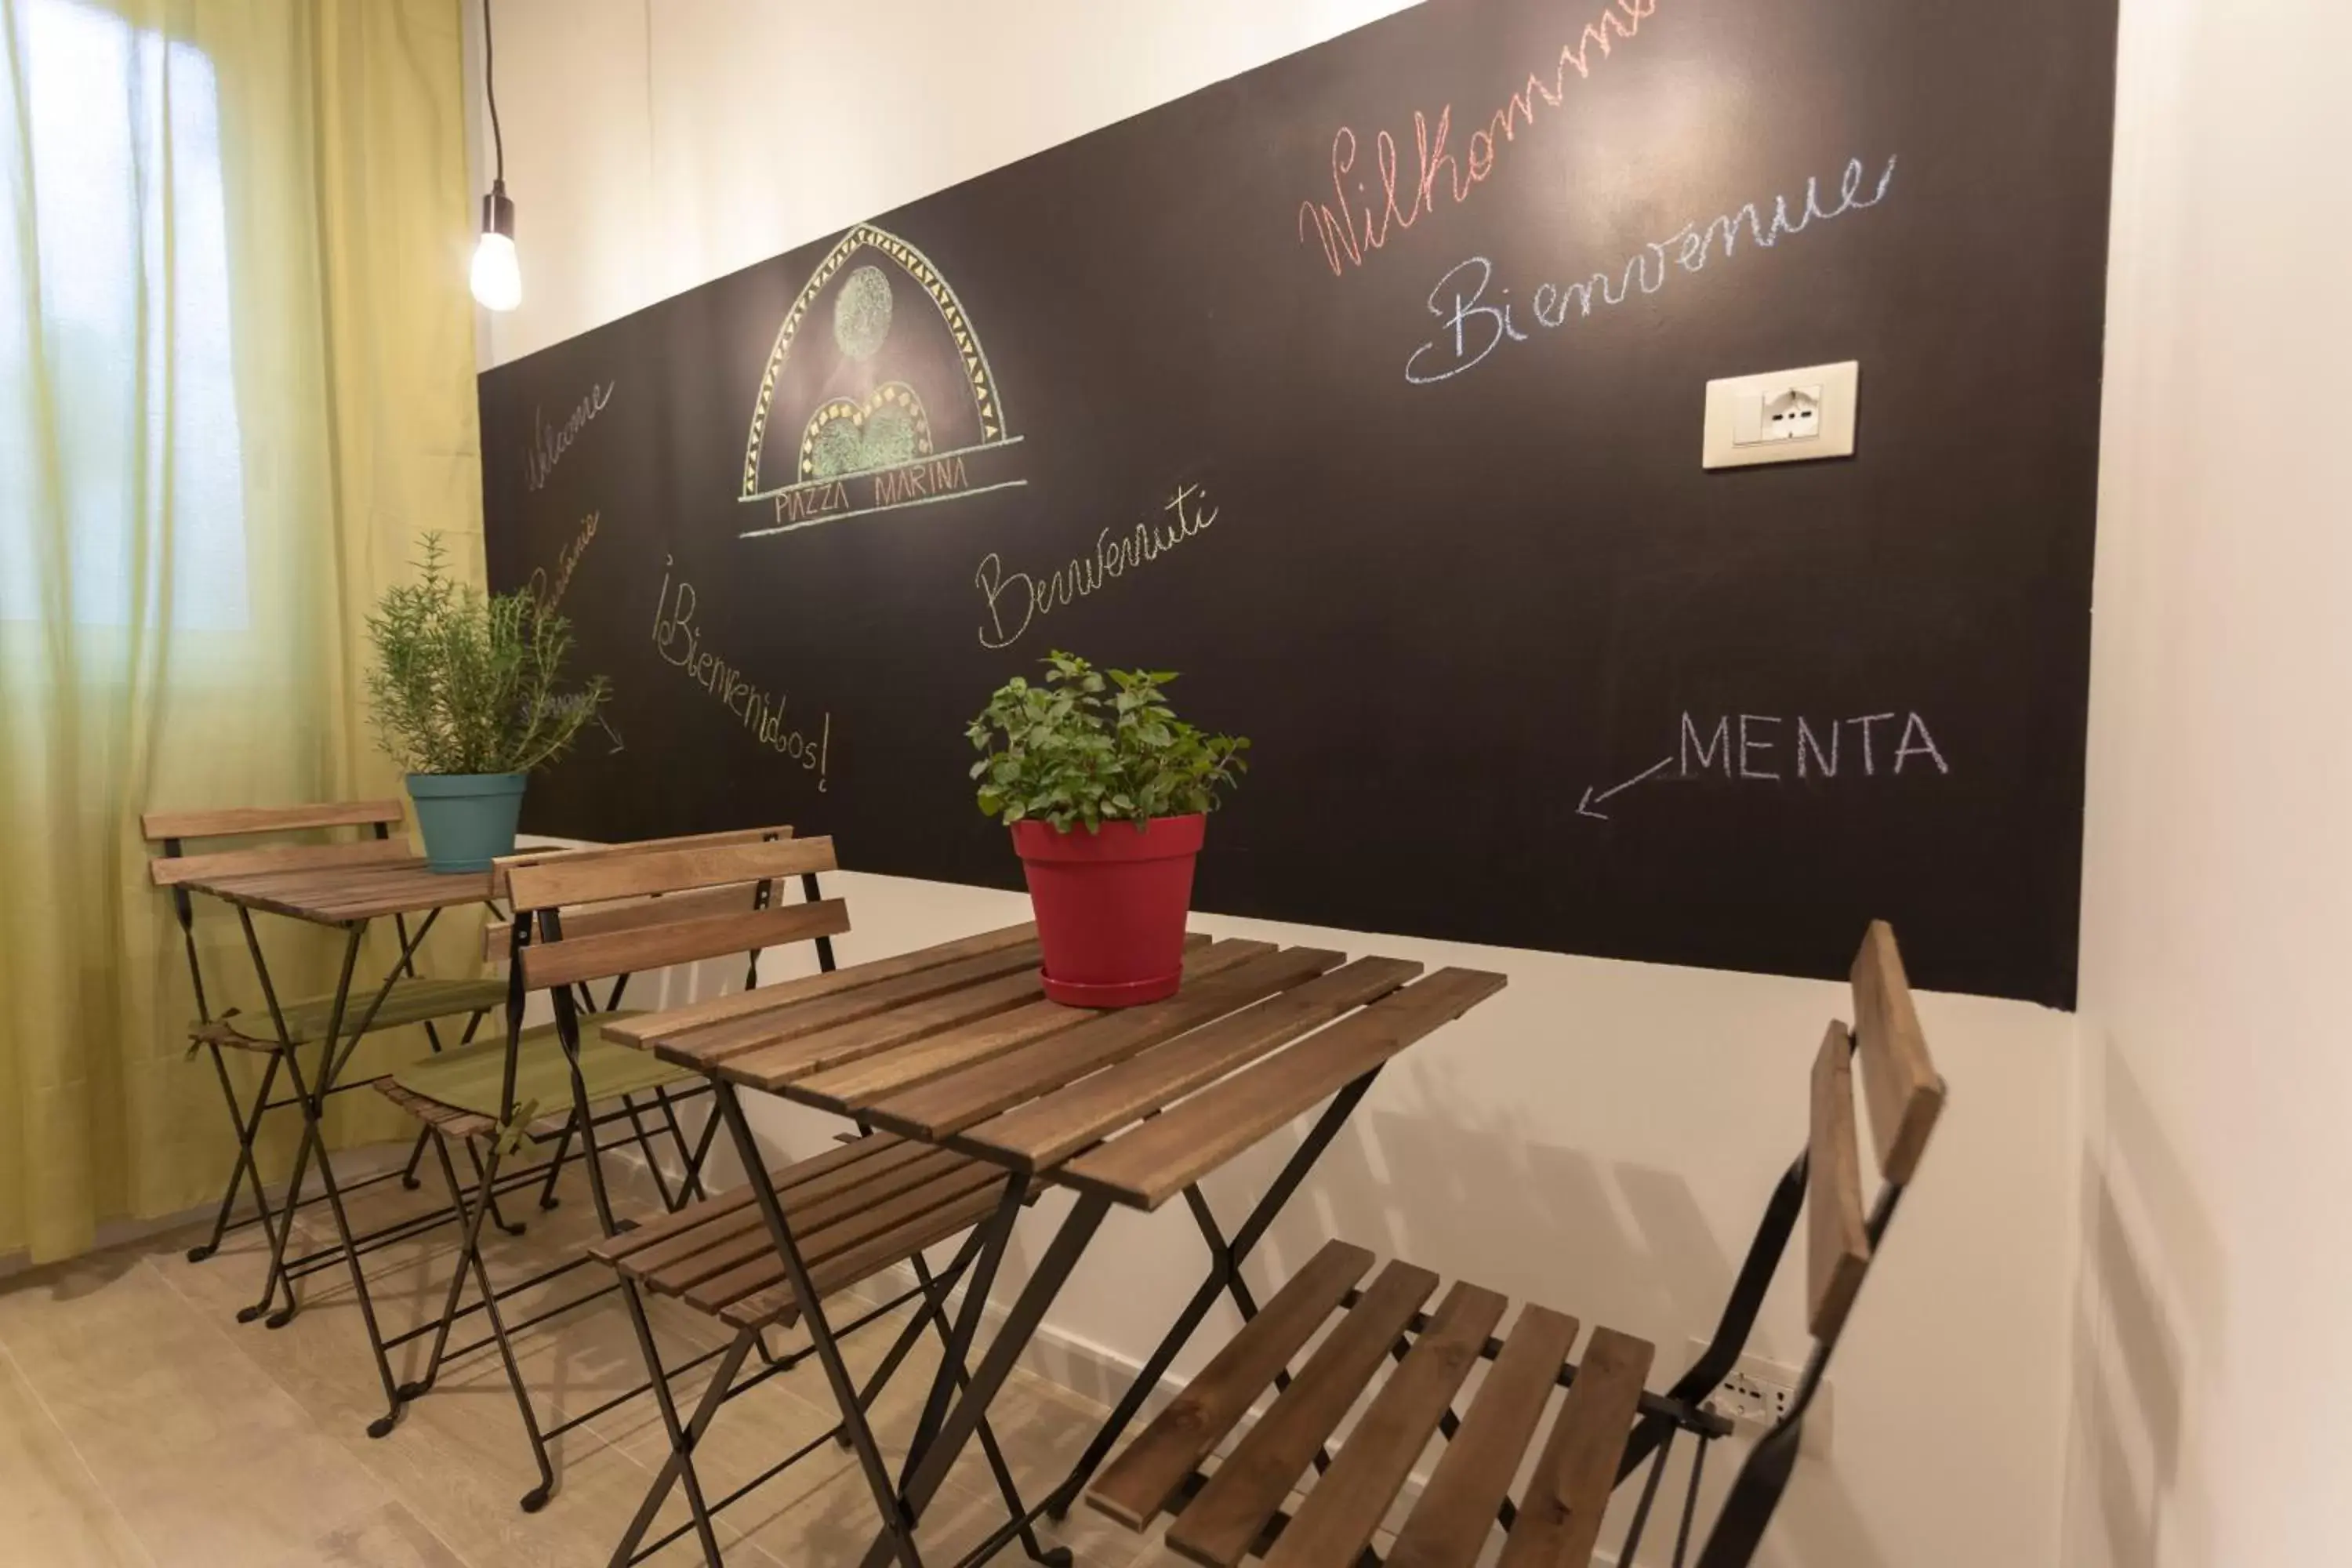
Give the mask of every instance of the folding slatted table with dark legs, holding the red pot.
POLYGON ((1218 1295, 1230 1295, 1244 1319, 1256 1316, 1242 1260, 1381 1067, 1503 990, 1496 973, 1442 969, 1418 983, 1416 976, 1421 966, 1402 959, 1350 964, 1317 947, 1195 938, 1176 997, 1094 1013, 1044 999, 1035 929, 1011 926, 642 1016, 607 1034, 715 1079, 720 1114, 776 1246, 767 1288, 797 1295, 882 1516, 866 1568, 891 1556, 915 1568, 922 1509, 1112 1204, 1150 1211, 1183 1194, 1209 1244, 1209 1272, 1070 1476, 964 1563, 995 1556, 1040 1514, 1068 1512, 1218 1295), (840 1112, 1004 1171, 993 1208, 976 1206, 981 1253, 898 1479, 882 1467, 830 1349, 833 1331, 743 1117, 741 1088, 840 1112), (1312 1131, 1228 1239, 1200 1192, 1202 1178, 1324 1100, 1312 1131), (1042 1182, 1073 1187, 1077 1201, 971 1368, 969 1387, 953 1399, 1014 1220, 1042 1182))

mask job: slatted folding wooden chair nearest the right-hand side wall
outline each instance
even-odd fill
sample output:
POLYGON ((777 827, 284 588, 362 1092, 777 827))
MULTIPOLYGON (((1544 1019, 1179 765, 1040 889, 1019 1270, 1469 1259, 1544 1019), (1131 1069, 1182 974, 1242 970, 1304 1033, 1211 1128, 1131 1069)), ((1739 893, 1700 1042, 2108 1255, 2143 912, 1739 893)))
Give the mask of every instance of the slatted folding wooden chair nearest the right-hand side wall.
POLYGON ((1806 1211, 1813 1349, 1788 1415, 1740 1465, 1698 1559, 1700 1568, 1745 1568, 1788 1488, 1806 1408, 1945 1098, 1884 924, 1872 924, 1863 938, 1851 983, 1856 1025, 1832 1023, 1813 1058, 1806 1147, 1773 1192, 1715 1340, 1668 1394, 1644 1392, 1653 1356, 1644 1340, 1595 1328, 1583 1361, 1566 1363, 1576 1345, 1573 1316, 1526 1305, 1498 1340, 1494 1331, 1508 1302, 1494 1291, 1458 1281, 1430 1314, 1423 1305, 1437 1291, 1437 1274, 1388 1262, 1371 1286, 1359 1286, 1374 1255, 1331 1241, 1129 1443, 1087 1500, 1136 1530, 1171 1512, 1169 1547, 1214 1568, 1232 1568, 1249 1554, 1263 1554, 1268 1568, 1359 1561, 1468 1568, 1496 1528, 1503 1530, 1501 1568, 1583 1568, 1595 1561, 1611 1493, 1646 1467, 1628 1537, 1613 1556, 1632 1563, 1668 1453, 1689 1432, 1698 1450, 1675 1540, 1679 1568, 1708 1443, 1729 1429, 1700 1401, 1745 1349, 1797 1213, 1806 1211), (1867 1211, 1853 1112, 1856 1053, 1882 1178, 1867 1211), (1291 1361, 1327 1324, 1329 1333, 1294 1378, 1291 1361), (1458 1418, 1454 1399, 1482 1361, 1491 1366, 1470 1413, 1458 1418), (1555 1385, 1566 1396, 1526 1490, 1512 1502, 1510 1483, 1555 1385), (1364 1415, 1331 1458, 1327 1441, 1367 1392, 1364 1415), (1272 1396, 1265 1413, 1204 1474, 1216 1446, 1265 1396, 1272 1396), (1385 1556, 1367 1556, 1432 1434, 1446 1443, 1428 1486, 1385 1556), (1310 1467, 1317 1474, 1310 1476, 1310 1467), (1284 1505, 1296 1486, 1305 1488, 1305 1500, 1294 1514, 1284 1505))

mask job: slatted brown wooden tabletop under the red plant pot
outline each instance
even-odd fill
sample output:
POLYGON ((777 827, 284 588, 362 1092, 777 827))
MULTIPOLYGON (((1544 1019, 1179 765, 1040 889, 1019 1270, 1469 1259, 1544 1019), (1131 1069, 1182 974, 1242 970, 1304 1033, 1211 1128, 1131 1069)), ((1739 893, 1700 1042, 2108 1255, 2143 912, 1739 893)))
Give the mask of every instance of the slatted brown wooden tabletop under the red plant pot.
POLYGON ((1035 926, 649 1013, 607 1037, 746 1088, 1157 1208, 1503 990, 1503 976, 1188 938, 1167 1001, 1037 985, 1035 926))

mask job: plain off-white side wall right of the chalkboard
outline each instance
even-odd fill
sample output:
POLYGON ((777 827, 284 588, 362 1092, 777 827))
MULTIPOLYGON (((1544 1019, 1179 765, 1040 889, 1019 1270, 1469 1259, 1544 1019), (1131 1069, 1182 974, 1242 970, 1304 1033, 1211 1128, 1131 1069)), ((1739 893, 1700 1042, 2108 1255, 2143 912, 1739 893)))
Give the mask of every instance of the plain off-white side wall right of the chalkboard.
POLYGON ((2124 5, 2070 1568, 2352 1540, 2352 14, 2249 21, 2124 5))

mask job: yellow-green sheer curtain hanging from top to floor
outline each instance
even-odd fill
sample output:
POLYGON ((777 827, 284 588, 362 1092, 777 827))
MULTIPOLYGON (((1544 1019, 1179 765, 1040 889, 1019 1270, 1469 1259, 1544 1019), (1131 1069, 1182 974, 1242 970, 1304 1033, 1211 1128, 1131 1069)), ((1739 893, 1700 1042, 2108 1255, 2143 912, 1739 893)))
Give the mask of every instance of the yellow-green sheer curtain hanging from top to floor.
MULTIPOLYGON (((0 1258, 40 1260, 233 1152, 139 811, 397 792, 362 616, 421 529, 480 559, 473 223, 459 0, 0 0, 0 1258)), ((252 1004, 233 919, 205 947, 252 1004)))

